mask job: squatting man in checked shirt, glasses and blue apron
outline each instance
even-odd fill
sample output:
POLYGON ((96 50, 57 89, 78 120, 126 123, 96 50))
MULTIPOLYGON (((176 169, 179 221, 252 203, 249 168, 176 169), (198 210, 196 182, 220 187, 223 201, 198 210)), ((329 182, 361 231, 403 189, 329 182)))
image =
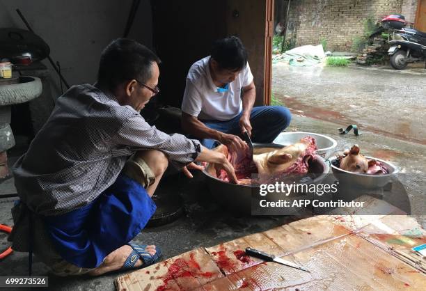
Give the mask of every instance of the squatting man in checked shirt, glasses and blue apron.
POLYGON ((145 267, 159 260, 159 248, 129 242, 155 212, 151 196, 168 164, 191 176, 189 168, 200 169, 194 161, 214 162, 236 182, 224 155, 139 114, 159 92, 159 63, 138 42, 114 40, 97 83, 58 98, 13 167, 13 249, 33 251, 61 276, 145 267))

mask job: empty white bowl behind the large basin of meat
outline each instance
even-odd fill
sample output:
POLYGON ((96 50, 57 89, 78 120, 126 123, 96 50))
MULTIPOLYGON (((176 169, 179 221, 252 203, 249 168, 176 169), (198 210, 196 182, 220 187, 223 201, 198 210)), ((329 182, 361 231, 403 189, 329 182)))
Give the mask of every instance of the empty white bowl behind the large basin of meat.
POLYGON ((318 147, 317 154, 324 157, 324 159, 330 157, 334 148, 337 146, 337 141, 331 139, 331 137, 322 134, 315 134, 313 132, 281 132, 281 134, 278 134, 276 139, 274 139, 273 143, 290 146, 306 136, 312 136, 315 138, 318 147))

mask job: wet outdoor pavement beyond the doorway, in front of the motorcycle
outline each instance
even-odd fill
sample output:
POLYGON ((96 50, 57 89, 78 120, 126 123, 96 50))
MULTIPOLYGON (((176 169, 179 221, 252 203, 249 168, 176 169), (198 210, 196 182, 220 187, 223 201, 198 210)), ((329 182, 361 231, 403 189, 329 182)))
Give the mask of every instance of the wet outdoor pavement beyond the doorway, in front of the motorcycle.
POLYGON ((272 92, 293 113, 426 144, 426 70, 418 64, 397 71, 275 63, 272 92))

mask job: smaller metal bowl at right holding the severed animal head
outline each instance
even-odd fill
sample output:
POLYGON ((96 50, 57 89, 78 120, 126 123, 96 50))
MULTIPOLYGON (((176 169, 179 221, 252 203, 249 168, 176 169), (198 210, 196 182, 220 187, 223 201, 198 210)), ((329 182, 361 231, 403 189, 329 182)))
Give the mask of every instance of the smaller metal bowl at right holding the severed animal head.
POLYGON ((389 173, 383 175, 371 175, 345 171, 333 165, 333 162, 337 159, 337 157, 331 157, 329 159, 331 162, 331 171, 333 171, 333 175, 337 178, 337 180, 339 180, 340 184, 347 187, 356 187, 361 189, 379 189, 385 187, 386 184, 392 182, 395 174, 399 172, 396 166, 390 164, 390 162, 384 161, 383 159, 377 159, 376 157, 365 158, 375 159, 376 161, 381 162, 388 169, 389 173))

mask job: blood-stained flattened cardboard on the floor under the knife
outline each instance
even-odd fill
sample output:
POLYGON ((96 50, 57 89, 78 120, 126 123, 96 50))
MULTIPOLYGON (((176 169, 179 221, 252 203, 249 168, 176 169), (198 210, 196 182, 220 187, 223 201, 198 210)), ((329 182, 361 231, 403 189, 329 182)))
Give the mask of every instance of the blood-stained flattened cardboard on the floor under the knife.
MULTIPOLYGON (((374 198, 372 198, 374 199, 374 198)), ((376 202, 374 202, 376 203, 376 202)), ((374 204, 373 203, 373 204, 374 204)), ((406 215, 324 215, 195 249, 116 279, 117 290, 425 290, 411 251, 425 231, 406 215), (251 246, 310 273, 244 254, 251 246), (402 254, 402 255, 401 255, 402 254), (411 258, 411 260, 409 259, 411 258)))

